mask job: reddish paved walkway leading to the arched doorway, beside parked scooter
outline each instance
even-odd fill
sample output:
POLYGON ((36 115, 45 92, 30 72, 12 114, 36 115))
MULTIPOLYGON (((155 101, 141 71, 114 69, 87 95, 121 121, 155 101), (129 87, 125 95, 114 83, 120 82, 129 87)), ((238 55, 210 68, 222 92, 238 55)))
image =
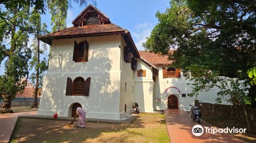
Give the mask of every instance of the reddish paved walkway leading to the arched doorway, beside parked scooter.
MULTIPOLYGON (((189 117, 189 113, 183 110, 164 110, 164 116, 166 120, 166 126, 170 138, 170 142, 177 143, 197 143, 197 142, 245 142, 231 134, 210 134, 203 133, 201 136, 195 136, 191 132, 193 126, 197 125, 197 122, 193 121, 189 117)), ((214 127, 213 125, 201 121, 203 127, 214 127)), ((217 127, 214 127, 217 128, 217 127)))

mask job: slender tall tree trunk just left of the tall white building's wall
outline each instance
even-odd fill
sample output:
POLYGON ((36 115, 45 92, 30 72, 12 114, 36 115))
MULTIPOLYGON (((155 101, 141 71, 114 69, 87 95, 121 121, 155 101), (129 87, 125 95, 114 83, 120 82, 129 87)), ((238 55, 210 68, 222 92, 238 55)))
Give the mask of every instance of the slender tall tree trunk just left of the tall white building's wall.
MULTIPOLYGON (((38 37, 39 34, 37 34, 38 37)), ((40 41, 37 39, 37 64, 40 63, 40 41)), ((38 93, 38 81, 39 81, 39 67, 36 66, 36 83, 35 83, 35 94, 34 94, 34 103, 32 104, 31 108, 37 108, 37 93, 38 93)))

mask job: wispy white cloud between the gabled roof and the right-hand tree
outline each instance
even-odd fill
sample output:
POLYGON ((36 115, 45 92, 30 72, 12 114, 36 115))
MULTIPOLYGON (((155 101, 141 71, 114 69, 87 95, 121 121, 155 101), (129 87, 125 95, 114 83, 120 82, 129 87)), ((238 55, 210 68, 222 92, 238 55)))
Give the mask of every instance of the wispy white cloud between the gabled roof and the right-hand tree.
POLYGON ((146 41, 146 37, 150 36, 153 26, 151 23, 144 22, 139 23, 135 28, 136 30, 131 33, 132 36, 135 38, 134 41, 137 46, 137 49, 144 50, 144 47, 142 47, 142 43, 146 41))

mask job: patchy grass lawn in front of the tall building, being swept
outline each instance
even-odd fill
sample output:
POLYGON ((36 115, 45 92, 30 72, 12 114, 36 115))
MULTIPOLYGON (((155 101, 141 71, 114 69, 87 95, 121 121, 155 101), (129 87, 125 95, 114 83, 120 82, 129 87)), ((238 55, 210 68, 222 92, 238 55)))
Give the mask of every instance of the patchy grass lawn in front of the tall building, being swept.
POLYGON ((86 128, 65 127, 70 121, 19 117, 11 142, 169 142, 164 115, 140 113, 131 124, 87 122, 86 128))

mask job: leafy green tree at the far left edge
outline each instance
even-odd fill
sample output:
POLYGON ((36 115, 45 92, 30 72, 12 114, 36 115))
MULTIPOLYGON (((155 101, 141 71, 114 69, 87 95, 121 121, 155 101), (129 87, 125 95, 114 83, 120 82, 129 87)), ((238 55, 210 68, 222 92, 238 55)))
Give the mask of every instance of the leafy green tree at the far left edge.
MULTIPOLYGON (((3 15, 2 15, 3 16, 3 15)), ((0 19, 3 28, 1 32, 1 62, 5 60, 5 73, 0 76, 0 95, 4 98, 1 113, 12 113, 11 101, 18 91, 22 91, 27 85, 28 61, 31 58, 31 50, 28 47, 28 26, 29 6, 13 9, 4 12, 8 21, 0 19), (23 28, 19 27, 22 26, 23 28), (8 32, 7 32, 8 31, 8 32), (3 42, 10 39, 9 46, 3 42)))

